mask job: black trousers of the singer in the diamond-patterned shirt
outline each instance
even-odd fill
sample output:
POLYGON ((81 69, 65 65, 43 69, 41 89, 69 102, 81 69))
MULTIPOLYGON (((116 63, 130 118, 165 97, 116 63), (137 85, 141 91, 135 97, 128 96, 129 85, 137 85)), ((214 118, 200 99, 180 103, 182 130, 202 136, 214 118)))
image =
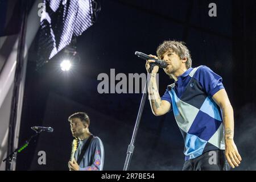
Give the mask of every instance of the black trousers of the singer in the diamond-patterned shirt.
POLYGON ((224 150, 208 151, 195 159, 185 161, 183 171, 229 171, 224 150))

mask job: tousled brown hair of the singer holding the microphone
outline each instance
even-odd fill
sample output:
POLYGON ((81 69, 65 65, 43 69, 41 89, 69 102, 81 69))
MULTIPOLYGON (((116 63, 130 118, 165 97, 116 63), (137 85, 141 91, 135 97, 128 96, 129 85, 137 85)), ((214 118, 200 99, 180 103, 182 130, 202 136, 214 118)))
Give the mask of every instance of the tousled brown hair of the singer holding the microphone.
POLYGON ((163 59, 163 54, 171 49, 174 51, 180 59, 184 59, 187 57, 187 61, 185 63, 187 69, 192 65, 192 59, 188 48, 185 46, 184 42, 176 41, 176 40, 165 40, 158 48, 156 49, 156 54, 158 55, 159 59, 163 59))

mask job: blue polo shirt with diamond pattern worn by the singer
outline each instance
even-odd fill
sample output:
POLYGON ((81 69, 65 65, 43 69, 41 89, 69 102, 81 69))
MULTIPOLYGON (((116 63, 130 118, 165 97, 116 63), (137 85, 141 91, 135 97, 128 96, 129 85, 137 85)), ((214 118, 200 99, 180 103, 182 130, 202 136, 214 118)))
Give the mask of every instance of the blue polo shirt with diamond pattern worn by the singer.
POLYGON ((204 152, 225 150, 224 126, 220 107, 212 96, 224 89, 222 78, 201 65, 189 68, 168 85, 162 100, 170 102, 183 135, 185 160, 204 152))

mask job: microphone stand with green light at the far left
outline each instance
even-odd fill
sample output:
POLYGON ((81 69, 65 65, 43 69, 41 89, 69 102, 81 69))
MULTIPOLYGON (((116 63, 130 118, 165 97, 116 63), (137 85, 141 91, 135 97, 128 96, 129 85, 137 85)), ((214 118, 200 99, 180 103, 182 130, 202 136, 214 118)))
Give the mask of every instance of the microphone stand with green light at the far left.
POLYGON ((28 144, 30 143, 30 140, 36 136, 38 136, 43 130, 35 130, 36 131, 36 134, 32 135, 28 140, 26 140, 26 142, 16 148, 13 152, 11 152, 10 155, 8 155, 5 159, 3 159, 3 162, 5 162, 7 160, 7 163, 6 163, 6 170, 7 171, 11 171, 11 164, 13 163, 13 159, 16 159, 16 155, 17 155, 17 152, 21 152, 24 148, 26 148, 28 146, 28 144))

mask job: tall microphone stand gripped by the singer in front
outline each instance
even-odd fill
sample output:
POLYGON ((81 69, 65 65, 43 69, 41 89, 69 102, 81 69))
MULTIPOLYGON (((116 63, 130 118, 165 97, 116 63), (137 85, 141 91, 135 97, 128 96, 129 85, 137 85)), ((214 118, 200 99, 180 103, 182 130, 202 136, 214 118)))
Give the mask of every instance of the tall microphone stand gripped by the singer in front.
POLYGON ((130 163, 131 163, 131 156, 133 155, 133 151, 134 151, 134 143, 135 143, 135 139, 137 137, 137 133, 138 133, 138 129, 139 129, 139 122, 141 121, 141 115, 142 115, 142 111, 144 108, 144 104, 147 98, 147 83, 150 81, 150 77, 151 77, 151 73, 153 71, 155 64, 154 63, 150 63, 150 70, 149 73, 147 74, 147 82, 146 85, 144 86, 144 90, 142 93, 142 99, 141 99, 141 104, 139 105, 139 111, 137 114, 137 119, 135 122, 135 126, 134 126, 134 130, 133 130, 133 136, 131 137, 131 143, 128 146, 127 149, 127 155, 126 155, 126 159, 125 159, 125 166, 123 166, 123 171, 127 171, 130 167, 130 163))

